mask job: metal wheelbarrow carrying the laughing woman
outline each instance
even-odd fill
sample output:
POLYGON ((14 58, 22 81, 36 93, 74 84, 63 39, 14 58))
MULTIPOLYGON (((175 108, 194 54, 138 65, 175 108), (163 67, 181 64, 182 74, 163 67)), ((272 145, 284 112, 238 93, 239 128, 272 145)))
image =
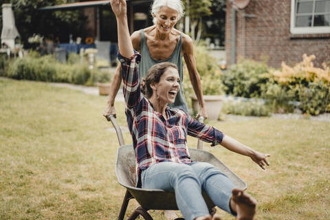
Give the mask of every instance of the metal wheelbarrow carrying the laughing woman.
MULTIPOLYGON (((122 208, 118 216, 118 220, 123 220, 126 212, 126 208, 129 204, 129 200, 135 199, 140 206, 137 207, 128 220, 134 220, 140 215, 145 220, 153 220, 148 210, 178 210, 177 203, 175 201, 174 192, 166 192, 164 190, 151 190, 135 187, 135 155, 133 146, 131 144, 124 144, 124 138, 122 137, 122 131, 113 115, 109 115, 115 132, 117 133, 118 142, 120 147, 117 150, 117 157, 115 161, 115 175, 118 179, 118 183, 126 188, 124 200, 122 201, 122 208)), ((201 144, 199 143, 199 148, 201 144)), ((236 187, 245 190, 247 184, 241 178, 239 178, 232 170, 230 170, 225 164, 223 164, 217 157, 203 151, 201 149, 189 148, 190 157, 193 161, 208 162, 221 170, 222 173, 234 182, 236 187)), ((206 192, 202 192, 203 198, 206 201, 210 213, 215 213, 215 205, 208 197, 206 192)))

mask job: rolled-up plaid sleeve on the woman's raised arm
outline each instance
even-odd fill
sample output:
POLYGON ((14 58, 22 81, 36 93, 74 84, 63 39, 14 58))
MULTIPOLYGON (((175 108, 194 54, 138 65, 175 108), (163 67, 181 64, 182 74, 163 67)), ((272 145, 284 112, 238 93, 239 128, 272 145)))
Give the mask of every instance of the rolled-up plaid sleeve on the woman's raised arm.
POLYGON ((118 60, 122 65, 123 94, 128 108, 133 108, 142 98, 138 65, 141 61, 141 55, 134 51, 131 58, 126 58, 118 53, 118 60))

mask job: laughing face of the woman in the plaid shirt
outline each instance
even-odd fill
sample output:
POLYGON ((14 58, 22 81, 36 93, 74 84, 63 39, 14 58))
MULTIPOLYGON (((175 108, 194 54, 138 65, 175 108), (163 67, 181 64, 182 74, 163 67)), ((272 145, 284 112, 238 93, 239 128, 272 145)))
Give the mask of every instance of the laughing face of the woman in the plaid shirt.
POLYGON ((162 103, 174 103, 180 89, 180 76, 177 69, 168 67, 159 79, 159 83, 153 85, 153 95, 162 103))

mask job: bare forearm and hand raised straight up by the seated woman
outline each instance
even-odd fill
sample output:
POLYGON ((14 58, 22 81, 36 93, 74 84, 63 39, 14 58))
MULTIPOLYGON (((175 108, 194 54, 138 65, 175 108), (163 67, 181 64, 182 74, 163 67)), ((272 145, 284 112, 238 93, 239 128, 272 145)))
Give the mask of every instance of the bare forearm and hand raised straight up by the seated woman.
POLYGON ((131 58, 134 54, 129 25, 127 24, 127 5, 125 0, 111 0, 111 8, 117 20, 118 46, 122 56, 131 58))

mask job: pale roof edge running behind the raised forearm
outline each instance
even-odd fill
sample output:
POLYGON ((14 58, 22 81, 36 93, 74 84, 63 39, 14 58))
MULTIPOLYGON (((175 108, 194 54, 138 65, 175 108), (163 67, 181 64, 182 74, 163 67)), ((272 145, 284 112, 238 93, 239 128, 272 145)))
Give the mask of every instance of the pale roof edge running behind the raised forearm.
MULTIPOLYGON (((130 1, 132 4, 135 3, 143 3, 151 0, 126 0, 130 1)), ((68 10, 68 9, 76 9, 76 8, 85 8, 85 7, 92 7, 92 6, 98 6, 98 5, 110 5, 109 0, 102 0, 102 1, 82 1, 82 2, 76 2, 76 3, 66 3, 62 5, 53 5, 53 6, 47 6, 43 8, 39 8, 39 10, 68 10)))

